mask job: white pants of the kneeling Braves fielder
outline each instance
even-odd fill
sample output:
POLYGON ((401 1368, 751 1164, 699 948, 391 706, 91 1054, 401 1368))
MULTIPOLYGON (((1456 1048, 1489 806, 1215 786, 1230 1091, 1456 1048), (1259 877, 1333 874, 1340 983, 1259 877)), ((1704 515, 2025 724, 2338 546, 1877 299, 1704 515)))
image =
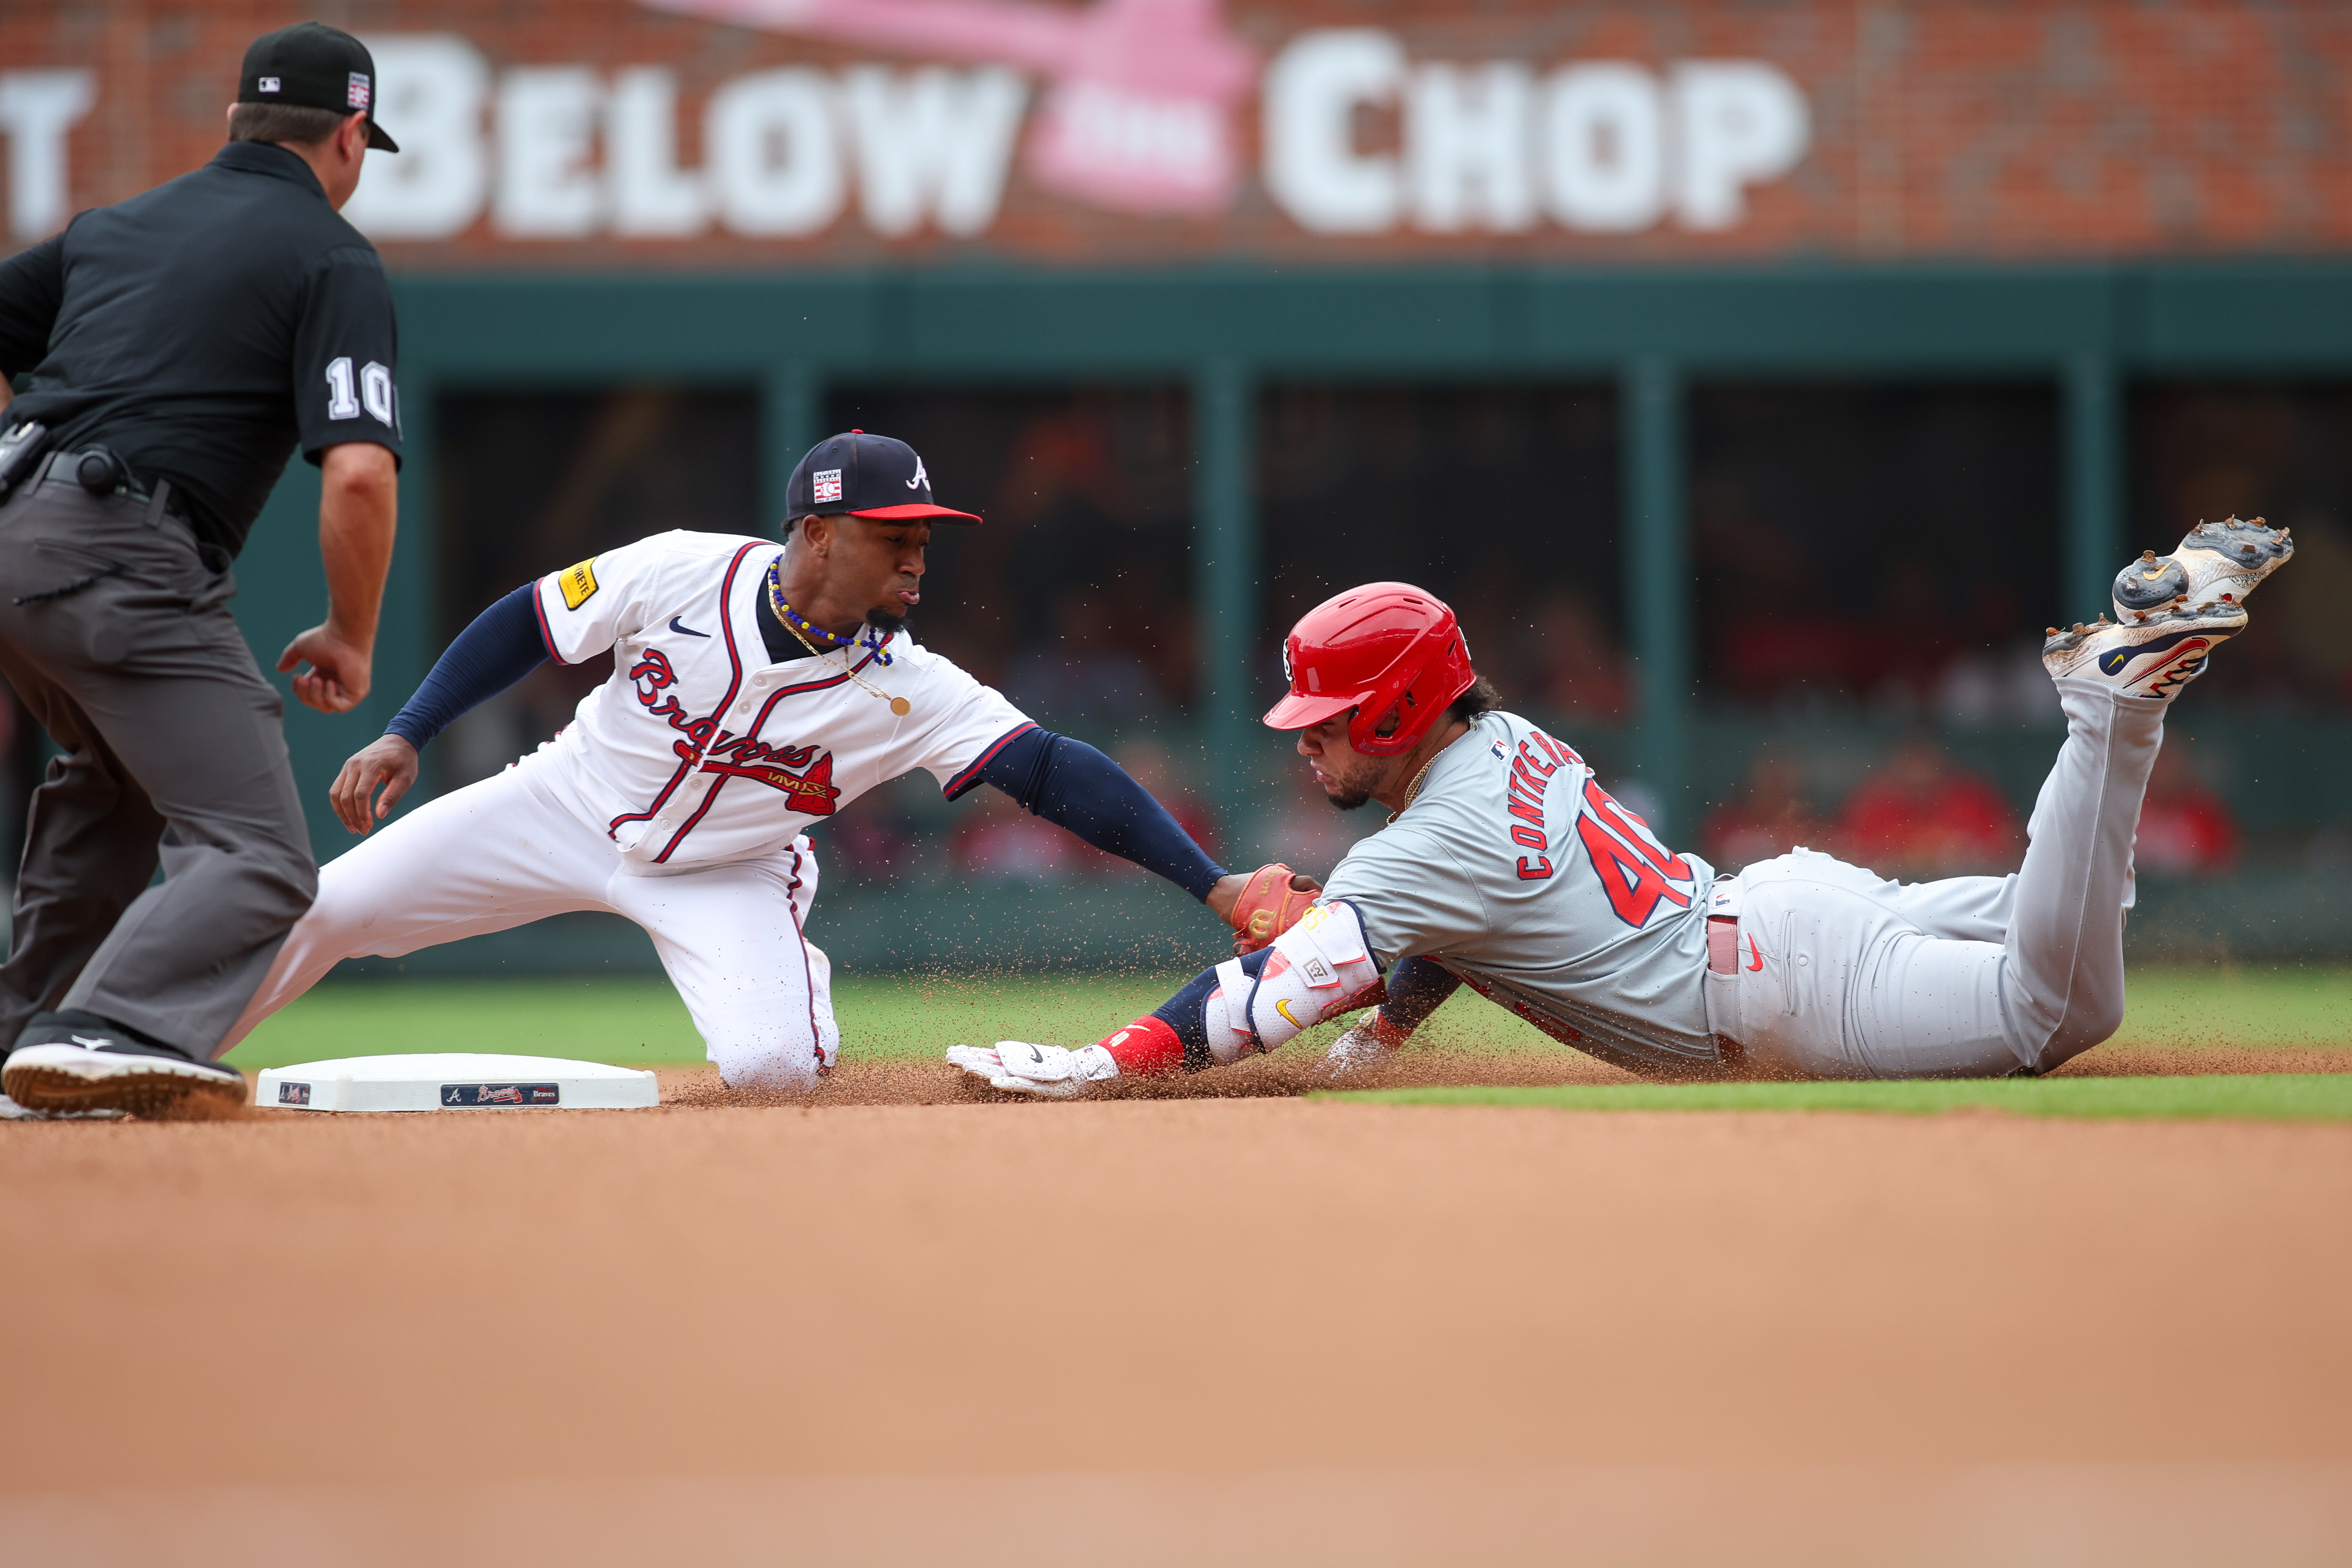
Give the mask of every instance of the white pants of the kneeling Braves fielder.
POLYGON ((644 867, 536 785, 524 759, 322 865, 318 900, 221 1051, 343 959, 397 959, 548 914, 609 910, 654 938, 729 1088, 809 1088, 842 1048, 833 966, 802 936, 814 900, 807 837, 757 860, 644 867))

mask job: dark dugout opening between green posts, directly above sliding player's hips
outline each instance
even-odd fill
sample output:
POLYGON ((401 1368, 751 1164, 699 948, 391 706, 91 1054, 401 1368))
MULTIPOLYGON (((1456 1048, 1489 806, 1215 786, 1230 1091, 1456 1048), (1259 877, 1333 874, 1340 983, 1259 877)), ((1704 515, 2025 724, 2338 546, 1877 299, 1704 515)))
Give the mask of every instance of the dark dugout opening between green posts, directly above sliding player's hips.
POLYGON ((2053 708, 2011 679, 2060 618, 2053 386, 1712 383, 1689 428, 1710 705, 1962 726, 2053 708))

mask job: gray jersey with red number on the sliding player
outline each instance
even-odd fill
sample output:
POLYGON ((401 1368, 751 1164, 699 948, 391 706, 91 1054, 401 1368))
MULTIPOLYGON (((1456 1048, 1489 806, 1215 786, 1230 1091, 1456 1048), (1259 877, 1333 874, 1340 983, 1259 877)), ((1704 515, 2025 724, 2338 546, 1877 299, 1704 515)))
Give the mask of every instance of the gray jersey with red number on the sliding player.
POLYGON ((1712 1063, 1705 891, 1566 743, 1484 712, 1404 813, 1331 872, 1381 969, 1428 957, 1543 1032, 1625 1067, 1712 1063))

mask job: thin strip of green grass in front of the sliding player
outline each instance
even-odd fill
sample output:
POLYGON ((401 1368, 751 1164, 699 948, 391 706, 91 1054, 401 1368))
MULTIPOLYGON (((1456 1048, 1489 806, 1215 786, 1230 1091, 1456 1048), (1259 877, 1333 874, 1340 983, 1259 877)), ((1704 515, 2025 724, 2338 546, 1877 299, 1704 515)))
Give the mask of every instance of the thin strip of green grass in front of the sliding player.
POLYGON ((1933 1114, 1985 1107, 2020 1117, 2241 1117, 2352 1121, 2352 1072, 2180 1079, 1966 1079, 1912 1084, 1606 1084, 1557 1088, 1374 1088, 1317 1100, 1519 1105, 1543 1110, 1860 1110, 1933 1114))

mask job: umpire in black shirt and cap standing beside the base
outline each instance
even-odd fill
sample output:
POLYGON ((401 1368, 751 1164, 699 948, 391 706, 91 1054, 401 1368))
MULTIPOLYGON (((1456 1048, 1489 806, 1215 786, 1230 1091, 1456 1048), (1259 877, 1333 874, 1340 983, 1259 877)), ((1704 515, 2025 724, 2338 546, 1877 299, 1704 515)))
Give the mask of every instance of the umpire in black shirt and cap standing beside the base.
POLYGON ((228 567, 299 442, 322 470, 327 621, 278 668, 308 665, 294 696, 320 712, 367 696, 395 329, 383 263, 336 214, 367 150, 400 150, 374 103, 360 40, 270 33, 209 165, 0 261, 0 675, 64 752, 0 966, 5 1114, 245 1100, 212 1053, 318 865, 228 567))

